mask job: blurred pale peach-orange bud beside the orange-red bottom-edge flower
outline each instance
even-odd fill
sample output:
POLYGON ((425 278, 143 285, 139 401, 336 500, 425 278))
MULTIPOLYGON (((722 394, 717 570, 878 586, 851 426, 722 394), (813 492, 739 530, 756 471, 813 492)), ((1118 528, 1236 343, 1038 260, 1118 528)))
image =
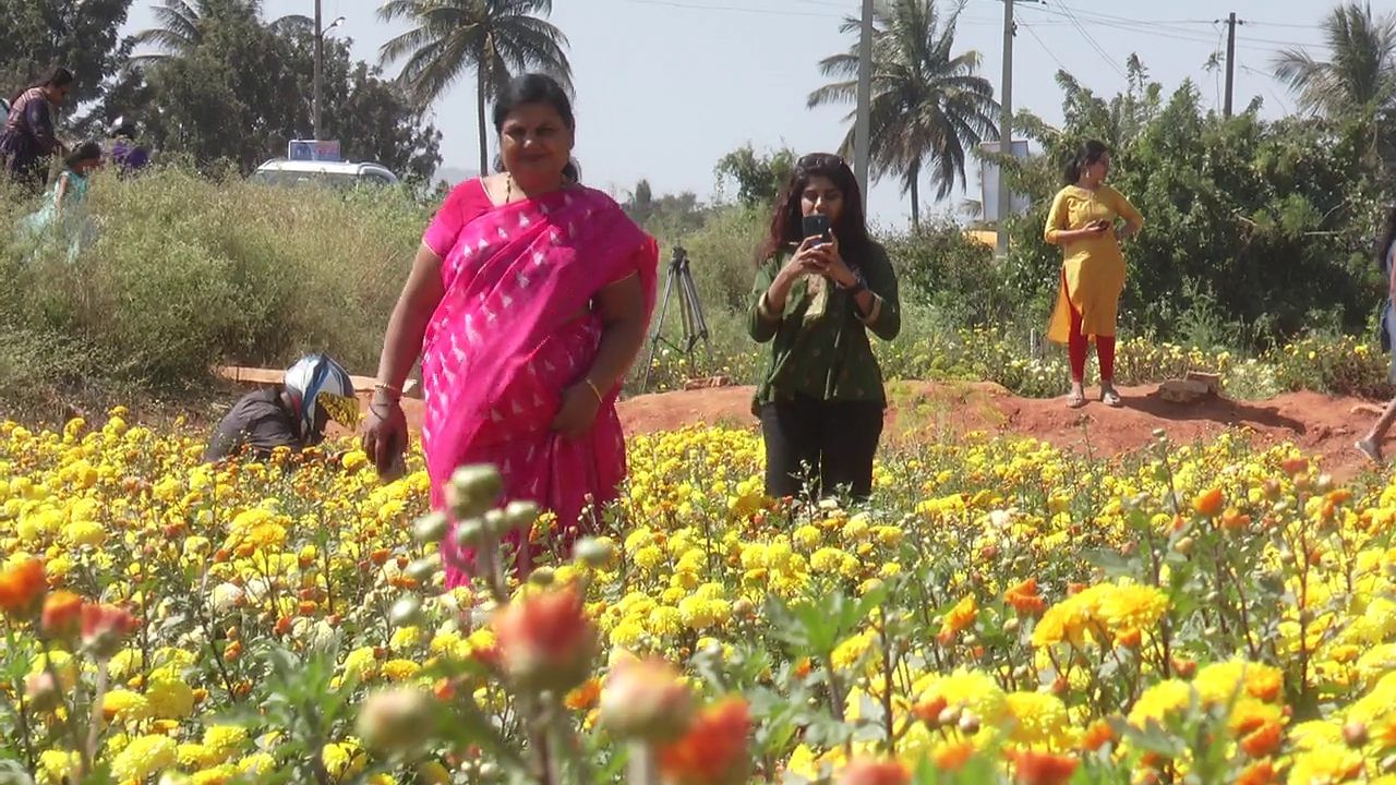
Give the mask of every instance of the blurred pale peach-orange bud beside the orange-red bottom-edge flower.
POLYGON ((688 729, 692 715, 692 691, 659 658, 621 659, 602 686, 602 725, 620 739, 667 742, 688 729))

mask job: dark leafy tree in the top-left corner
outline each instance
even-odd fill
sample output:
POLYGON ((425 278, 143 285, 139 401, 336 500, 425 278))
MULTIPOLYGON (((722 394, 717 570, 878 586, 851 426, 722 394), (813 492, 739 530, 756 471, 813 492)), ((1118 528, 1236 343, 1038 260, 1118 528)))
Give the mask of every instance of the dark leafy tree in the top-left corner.
POLYGON ((10 98, 53 66, 73 71, 70 105, 98 96, 120 66, 131 0, 0 0, 0 92, 10 98))

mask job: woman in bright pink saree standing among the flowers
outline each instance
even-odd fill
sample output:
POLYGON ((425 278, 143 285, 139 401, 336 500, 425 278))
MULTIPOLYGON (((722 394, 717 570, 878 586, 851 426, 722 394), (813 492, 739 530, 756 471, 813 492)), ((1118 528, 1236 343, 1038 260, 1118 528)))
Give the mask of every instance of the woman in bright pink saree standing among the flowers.
MULTIPOLYGON (((494 109, 504 172, 458 186, 427 229, 388 321, 364 450, 401 458, 402 383, 420 349, 431 503, 451 474, 494 464, 504 497, 557 514, 568 548, 625 476, 616 397, 655 299, 658 247, 606 194, 575 182, 567 94, 539 74, 494 109)), ((528 538, 514 541, 519 568, 528 538)), ((443 542, 447 585, 473 555, 443 542)))

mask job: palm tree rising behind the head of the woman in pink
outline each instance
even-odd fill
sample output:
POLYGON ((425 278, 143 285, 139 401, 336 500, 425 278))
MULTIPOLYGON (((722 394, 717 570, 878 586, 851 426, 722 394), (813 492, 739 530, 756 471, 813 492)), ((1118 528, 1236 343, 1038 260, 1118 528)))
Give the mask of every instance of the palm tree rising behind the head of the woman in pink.
POLYGON ((567 36, 546 18, 553 0, 388 0, 383 21, 417 27, 378 50, 384 64, 406 57, 399 77, 424 112, 466 68, 475 70, 480 131, 480 172, 489 170, 484 103, 500 94, 512 71, 542 68, 571 89, 567 36))

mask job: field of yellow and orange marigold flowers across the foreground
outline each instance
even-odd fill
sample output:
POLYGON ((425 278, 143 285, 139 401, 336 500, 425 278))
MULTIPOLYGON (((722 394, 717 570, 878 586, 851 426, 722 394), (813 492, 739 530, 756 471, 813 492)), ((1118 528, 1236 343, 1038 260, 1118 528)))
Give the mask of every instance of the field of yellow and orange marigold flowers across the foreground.
POLYGON ((631 440, 606 531, 444 591, 420 457, 198 464, 0 425, 0 779, 1396 782, 1396 486, 1164 434, 969 436, 866 508, 764 499, 754 433, 631 440))

